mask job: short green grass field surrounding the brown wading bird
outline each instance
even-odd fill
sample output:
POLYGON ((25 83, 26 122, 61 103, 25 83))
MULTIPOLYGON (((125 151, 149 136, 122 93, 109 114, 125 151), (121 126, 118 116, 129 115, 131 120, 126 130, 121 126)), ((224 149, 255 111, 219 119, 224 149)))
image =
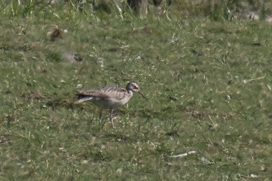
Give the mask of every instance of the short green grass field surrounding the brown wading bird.
POLYGON ((58 5, 0 16, 1 180, 272 180, 269 24, 58 5), (74 105, 130 80, 116 129, 74 105))

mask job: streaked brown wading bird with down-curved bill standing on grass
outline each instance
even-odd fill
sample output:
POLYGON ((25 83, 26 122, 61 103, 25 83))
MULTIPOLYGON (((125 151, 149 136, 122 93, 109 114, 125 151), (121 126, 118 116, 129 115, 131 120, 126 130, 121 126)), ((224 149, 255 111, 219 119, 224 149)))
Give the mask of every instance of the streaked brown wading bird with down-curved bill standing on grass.
MULTIPOLYGON (((103 86, 91 90, 80 90, 76 95, 78 100, 76 104, 91 101, 93 104, 106 109, 110 109, 110 122, 114 127, 113 111, 114 109, 126 104, 133 96, 133 92, 139 93, 146 100, 147 98, 140 92, 139 86, 135 82, 129 82, 126 88, 119 86, 103 86)), ((100 117, 102 113, 100 112, 100 117)))

